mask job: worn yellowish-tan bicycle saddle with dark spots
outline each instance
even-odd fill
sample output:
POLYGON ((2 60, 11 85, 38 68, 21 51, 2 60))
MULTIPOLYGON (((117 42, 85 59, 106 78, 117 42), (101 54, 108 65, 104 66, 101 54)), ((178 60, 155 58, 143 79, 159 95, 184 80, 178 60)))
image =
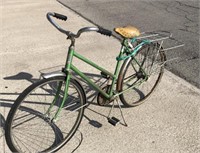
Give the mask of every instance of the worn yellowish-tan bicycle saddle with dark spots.
POLYGON ((133 26, 115 28, 114 31, 124 38, 133 38, 140 35, 140 31, 133 26))

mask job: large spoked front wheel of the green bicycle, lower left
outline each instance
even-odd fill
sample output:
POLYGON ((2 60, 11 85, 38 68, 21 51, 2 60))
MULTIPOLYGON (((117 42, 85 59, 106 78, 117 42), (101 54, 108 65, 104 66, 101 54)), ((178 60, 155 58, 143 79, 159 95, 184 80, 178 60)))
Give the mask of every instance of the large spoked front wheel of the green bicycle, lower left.
POLYGON ((16 99, 5 125, 6 142, 12 152, 55 152, 73 137, 81 123, 86 103, 84 90, 76 80, 70 79, 66 104, 58 120, 51 121, 62 101, 65 79, 56 76, 40 80, 16 99), (51 105, 51 98, 55 97, 58 84, 61 84, 59 96, 47 115, 45 113, 51 105), (76 115, 75 118, 71 114, 76 115), (71 127, 66 129, 68 125, 71 127))

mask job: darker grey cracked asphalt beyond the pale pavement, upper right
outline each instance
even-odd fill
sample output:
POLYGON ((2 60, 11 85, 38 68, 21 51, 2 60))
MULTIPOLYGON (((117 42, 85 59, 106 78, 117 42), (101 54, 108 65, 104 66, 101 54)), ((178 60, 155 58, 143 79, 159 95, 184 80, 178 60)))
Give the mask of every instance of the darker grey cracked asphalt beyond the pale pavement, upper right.
MULTIPOLYGON (((168 62, 167 68, 200 88, 198 0, 59 1, 90 22, 109 30, 133 25, 141 31, 172 32, 177 40, 185 43, 185 46, 166 52, 168 60, 178 58, 168 62)), ((168 45, 170 44, 166 43, 166 46, 168 45)))

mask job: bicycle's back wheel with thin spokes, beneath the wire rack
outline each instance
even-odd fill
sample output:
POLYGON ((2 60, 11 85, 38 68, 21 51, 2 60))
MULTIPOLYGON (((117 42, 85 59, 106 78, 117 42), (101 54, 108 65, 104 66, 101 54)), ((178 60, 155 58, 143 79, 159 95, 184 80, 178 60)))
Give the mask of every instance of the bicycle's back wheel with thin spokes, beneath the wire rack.
MULTIPOLYGON (((146 70, 148 68, 150 68, 150 66, 151 66, 151 64, 153 64, 153 62, 157 62, 156 63, 157 65, 159 65, 159 64, 163 64, 163 65, 158 66, 158 68, 154 72, 155 74, 151 74, 151 75, 147 74, 148 79, 146 81, 144 81, 143 83, 141 83, 138 86, 133 87, 130 90, 125 91, 123 94, 119 95, 120 100, 124 104, 124 106, 134 107, 134 106, 138 106, 138 105, 142 104, 153 93, 153 91, 158 86, 158 84, 163 76, 164 63, 166 61, 165 53, 163 51, 158 50, 159 47, 160 47, 159 44, 153 44, 153 43, 144 45, 138 51, 138 53, 134 56, 134 58, 137 59, 140 62, 140 64, 142 63, 141 64, 142 68, 146 69, 146 70), (158 55, 157 55, 156 61, 153 61, 153 60, 155 60, 155 56, 156 56, 155 51, 157 51, 158 55), (141 60, 144 60, 144 61, 140 61, 140 58, 141 58, 141 60), (149 62, 150 64, 145 63, 146 61, 149 62), (150 65, 150 66, 148 67, 148 65, 150 65), (153 81, 155 81, 155 82, 153 82, 153 81), (148 84, 151 85, 151 87, 148 87, 148 84), (147 91, 147 89, 149 89, 149 91, 147 91)), ((153 64, 153 65, 155 65, 155 64, 153 64)), ((150 69, 153 69, 153 68, 151 67, 150 69)), ((129 78, 130 76, 133 76, 133 77, 135 76, 135 78, 136 78, 135 84, 136 84, 137 83, 136 81, 139 78, 138 75, 140 74, 140 77, 142 77, 141 72, 139 73, 139 71, 141 71, 141 70, 139 70, 139 66, 137 67, 137 64, 136 64, 135 60, 133 59, 133 57, 126 59, 122 65, 120 73, 119 73, 118 82, 117 82, 117 90, 119 92, 121 92, 133 84, 133 83, 132 84, 130 83, 130 84, 125 85, 125 83, 124 83, 125 79, 129 78), (125 87, 125 86, 128 86, 128 87, 125 87)), ((147 70, 147 71, 149 71, 149 70, 147 70)))

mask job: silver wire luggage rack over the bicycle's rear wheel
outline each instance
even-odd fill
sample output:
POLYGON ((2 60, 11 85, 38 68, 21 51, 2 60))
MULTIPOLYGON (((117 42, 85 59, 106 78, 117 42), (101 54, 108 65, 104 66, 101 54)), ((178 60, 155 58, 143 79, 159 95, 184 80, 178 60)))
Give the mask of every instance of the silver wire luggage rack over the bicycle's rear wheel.
MULTIPOLYGON (((166 51, 177 49, 184 46, 184 43, 173 38, 172 33, 168 31, 143 32, 141 33, 140 36, 130 39, 130 43, 131 43, 130 55, 135 52, 135 54, 132 54, 133 56, 136 55, 137 51, 139 51, 143 45, 154 44, 153 45, 154 47, 151 47, 151 49, 148 50, 148 55, 144 55, 146 56, 145 57, 146 60, 152 62, 153 59, 153 62, 151 63, 151 69, 149 69, 148 72, 149 75, 160 72, 160 68, 164 67, 166 63, 179 59, 179 57, 166 59, 165 56, 166 51), (160 60, 161 57, 159 56, 159 54, 161 52, 163 52, 165 58, 164 61, 160 60)), ((143 55, 143 53, 141 54, 143 55)))

